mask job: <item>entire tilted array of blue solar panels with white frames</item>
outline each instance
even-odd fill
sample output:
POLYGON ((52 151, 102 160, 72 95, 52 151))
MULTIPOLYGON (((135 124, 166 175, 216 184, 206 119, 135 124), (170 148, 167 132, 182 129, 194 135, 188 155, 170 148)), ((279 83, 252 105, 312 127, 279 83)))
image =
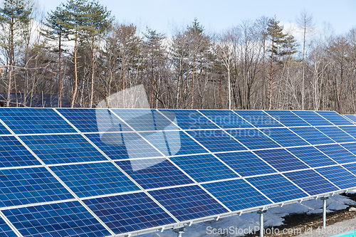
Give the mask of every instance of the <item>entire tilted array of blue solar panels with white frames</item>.
POLYGON ((124 236, 355 188, 352 116, 1 108, 0 234, 124 236))

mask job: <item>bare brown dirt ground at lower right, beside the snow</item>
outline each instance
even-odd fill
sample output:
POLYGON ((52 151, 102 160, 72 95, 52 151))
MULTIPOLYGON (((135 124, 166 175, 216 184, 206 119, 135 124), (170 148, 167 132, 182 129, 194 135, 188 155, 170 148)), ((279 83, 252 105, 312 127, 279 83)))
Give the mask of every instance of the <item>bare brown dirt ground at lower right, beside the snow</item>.
MULTIPOLYGON (((350 199, 356 201, 356 194, 342 194, 344 196, 349 197, 350 199)), ((326 226, 333 225, 334 223, 346 221, 352 218, 356 218, 356 211, 349 211, 350 207, 356 207, 350 205, 347 209, 334 211, 332 213, 328 213, 326 216, 326 226)), ((310 230, 313 228, 313 231, 323 227, 323 214, 293 214, 290 216, 285 216, 284 225, 278 226, 278 229, 288 228, 288 229, 301 229, 301 230, 310 230)), ((266 232, 268 233, 268 231, 266 232)), ((281 237, 294 237, 300 235, 300 233, 296 234, 283 234, 283 233, 273 233, 273 234, 264 234, 263 236, 281 236, 281 237)), ((246 235, 248 237, 259 237, 259 233, 253 235, 246 235)))

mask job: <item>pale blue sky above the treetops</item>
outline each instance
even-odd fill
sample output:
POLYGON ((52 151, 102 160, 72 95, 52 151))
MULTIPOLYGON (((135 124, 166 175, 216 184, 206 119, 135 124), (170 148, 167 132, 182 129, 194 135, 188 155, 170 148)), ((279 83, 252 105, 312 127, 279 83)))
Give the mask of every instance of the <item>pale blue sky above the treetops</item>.
MULTIPOLYGON (((33 0, 36 1, 36 0, 33 0)), ((315 26, 330 23, 335 33, 342 34, 356 27, 356 0, 98 0, 115 16, 119 23, 134 23, 140 31, 146 27, 158 33, 172 34, 174 28, 185 28, 197 18, 208 32, 219 33, 237 26, 246 19, 276 16, 283 25, 295 22, 305 9, 313 15, 315 26)), ((38 0, 50 11, 66 0, 38 0)))

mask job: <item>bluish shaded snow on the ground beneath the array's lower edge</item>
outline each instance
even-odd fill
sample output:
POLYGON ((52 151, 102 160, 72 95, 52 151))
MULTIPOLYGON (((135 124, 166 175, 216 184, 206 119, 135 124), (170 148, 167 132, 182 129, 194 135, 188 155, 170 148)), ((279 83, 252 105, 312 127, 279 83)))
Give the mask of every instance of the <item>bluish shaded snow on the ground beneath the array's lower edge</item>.
MULTIPOLYGON (((355 190, 356 191, 356 190, 355 190)), ((355 201, 348 199, 345 196, 335 194, 330 196, 327 201, 327 211, 333 212, 337 210, 346 209, 348 205, 356 205, 355 201)), ((263 225, 268 226, 281 226, 283 225, 284 216, 288 214, 318 214, 323 212, 323 201, 320 199, 313 199, 309 201, 303 201, 302 203, 286 204, 282 207, 275 207, 273 209, 268 209, 266 214, 263 214, 263 225)), ((241 216, 230 216, 226 218, 221 218, 219 221, 207 221, 203 223, 193 224, 192 226, 187 226, 187 233, 183 233, 183 237, 222 237, 222 236, 243 236, 239 233, 234 233, 233 235, 221 235, 213 234, 211 231, 214 228, 224 229, 224 228, 238 228, 238 229, 253 229, 259 226, 259 214, 255 212, 242 214, 241 216)), ((237 231, 236 231, 237 232, 237 231)), ((142 237, 177 237, 177 233, 172 230, 166 230, 155 233, 147 233, 142 235, 142 237)))

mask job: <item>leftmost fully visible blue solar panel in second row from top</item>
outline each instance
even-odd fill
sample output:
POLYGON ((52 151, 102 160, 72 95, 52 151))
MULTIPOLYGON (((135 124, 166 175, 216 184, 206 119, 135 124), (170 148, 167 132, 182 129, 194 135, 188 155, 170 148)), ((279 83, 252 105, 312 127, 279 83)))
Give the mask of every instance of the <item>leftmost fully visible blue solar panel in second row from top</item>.
POLYGON ((21 139, 46 164, 108 160, 81 135, 33 135, 21 139))

